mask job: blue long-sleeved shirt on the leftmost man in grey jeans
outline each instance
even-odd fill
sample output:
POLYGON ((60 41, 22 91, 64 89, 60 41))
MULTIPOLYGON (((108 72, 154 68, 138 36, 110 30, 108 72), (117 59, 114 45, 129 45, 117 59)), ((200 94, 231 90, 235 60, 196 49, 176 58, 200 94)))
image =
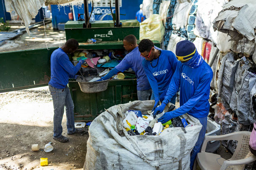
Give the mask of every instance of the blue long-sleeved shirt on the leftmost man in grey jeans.
POLYGON ((49 84, 58 89, 65 88, 68 79, 74 78, 80 67, 80 62, 74 66, 61 48, 56 49, 51 55, 51 79, 49 84))

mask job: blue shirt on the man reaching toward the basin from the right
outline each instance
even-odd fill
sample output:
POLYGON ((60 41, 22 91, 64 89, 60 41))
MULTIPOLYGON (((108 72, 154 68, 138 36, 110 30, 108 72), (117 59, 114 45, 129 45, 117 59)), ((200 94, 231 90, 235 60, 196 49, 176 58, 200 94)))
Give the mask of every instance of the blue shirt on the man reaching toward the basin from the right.
POLYGON ((142 66, 143 59, 143 57, 140 57, 139 47, 136 47, 115 67, 121 72, 131 68, 137 77, 137 90, 139 91, 145 91, 151 88, 142 66))

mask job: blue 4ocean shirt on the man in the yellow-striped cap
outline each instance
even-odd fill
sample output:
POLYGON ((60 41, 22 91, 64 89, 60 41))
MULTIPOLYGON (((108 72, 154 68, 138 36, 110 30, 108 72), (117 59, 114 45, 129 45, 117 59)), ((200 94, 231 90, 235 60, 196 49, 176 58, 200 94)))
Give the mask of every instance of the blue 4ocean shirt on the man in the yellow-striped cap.
POLYGON ((169 100, 180 88, 180 108, 172 111, 173 117, 184 113, 189 113, 195 118, 203 118, 208 115, 212 75, 212 68, 205 61, 198 68, 190 68, 181 62, 178 63, 163 101, 169 103, 169 100))

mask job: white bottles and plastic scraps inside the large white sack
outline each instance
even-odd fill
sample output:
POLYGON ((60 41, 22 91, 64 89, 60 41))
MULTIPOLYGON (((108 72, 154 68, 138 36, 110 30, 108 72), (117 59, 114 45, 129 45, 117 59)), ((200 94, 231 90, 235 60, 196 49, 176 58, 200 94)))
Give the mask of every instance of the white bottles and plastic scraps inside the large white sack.
MULTIPOLYGON (((172 107, 173 109, 174 107, 172 107)), ((153 113, 153 112, 152 112, 153 113)), ((163 130, 171 127, 191 127, 185 118, 182 116, 176 117, 168 122, 162 124, 161 122, 156 122, 158 118, 163 116, 164 111, 156 116, 154 119, 153 115, 142 115, 141 111, 128 110, 124 113, 127 115, 122 121, 130 136, 135 135, 161 135, 163 130)))

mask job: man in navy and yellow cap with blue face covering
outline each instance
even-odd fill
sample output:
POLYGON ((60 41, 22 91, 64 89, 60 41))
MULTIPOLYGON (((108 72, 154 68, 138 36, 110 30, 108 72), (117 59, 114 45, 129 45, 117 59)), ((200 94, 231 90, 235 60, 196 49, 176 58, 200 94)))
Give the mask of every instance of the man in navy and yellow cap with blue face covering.
POLYGON ((180 89, 180 108, 175 111, 166 112, 158 119, 158 122, 166 123, 170 119, 181 116, 185 113, 197 118, 203 125, 198 141, 192 150, 190 157, 190 169, 193 169, 195 157, 201 149, 204 140, 207 116, 209 113, 209 93, 212 81, 212 69, 198 54, 195 45, 183 40, 176 45, 176 57, 180 61, 170 82, 165 99, 154 113, 162 113, 172 96, 180 89))

